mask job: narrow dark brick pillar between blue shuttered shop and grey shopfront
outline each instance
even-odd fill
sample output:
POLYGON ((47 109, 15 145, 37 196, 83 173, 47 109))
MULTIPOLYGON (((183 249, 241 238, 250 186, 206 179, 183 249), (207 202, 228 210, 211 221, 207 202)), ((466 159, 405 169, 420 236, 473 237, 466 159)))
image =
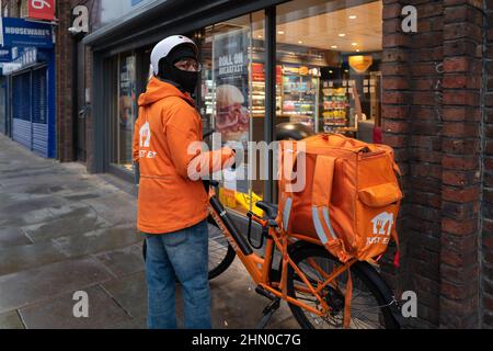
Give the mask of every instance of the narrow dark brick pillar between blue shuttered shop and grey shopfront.
POLYGON ((70 0, 57 1, 56 26, 56 90, 57 90, 57 155, 61 162, 74 160, 73 152, 73 106, 72 106, 72 50, 70 0))

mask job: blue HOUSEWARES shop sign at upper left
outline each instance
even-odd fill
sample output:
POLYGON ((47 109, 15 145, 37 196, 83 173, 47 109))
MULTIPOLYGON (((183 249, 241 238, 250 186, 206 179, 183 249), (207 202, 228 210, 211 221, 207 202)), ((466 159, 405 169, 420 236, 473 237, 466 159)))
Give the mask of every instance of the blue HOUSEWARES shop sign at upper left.
POLYGON ((53 47, 50 24, 30 22, 23 19, 3 18, 3 47, 34 46, 53 47))

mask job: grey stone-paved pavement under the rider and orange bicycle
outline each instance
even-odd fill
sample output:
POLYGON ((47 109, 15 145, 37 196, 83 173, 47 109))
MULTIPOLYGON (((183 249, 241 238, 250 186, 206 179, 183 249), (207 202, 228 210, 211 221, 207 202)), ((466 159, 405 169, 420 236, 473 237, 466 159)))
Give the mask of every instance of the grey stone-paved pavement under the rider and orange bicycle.
MULTIPOLYGON (((147 287, 136 190, 0 135, 0 329, 144 329, 147 287), (76 292, 89 318, 76 318, 76 292)), ((268 304, 237 259, 210 283, 217 329, 250 329, 268 304)), ((177 315, 182 296, 177 290, 177 315)), ((286 305, 267 328, 298 325, 286 305)))

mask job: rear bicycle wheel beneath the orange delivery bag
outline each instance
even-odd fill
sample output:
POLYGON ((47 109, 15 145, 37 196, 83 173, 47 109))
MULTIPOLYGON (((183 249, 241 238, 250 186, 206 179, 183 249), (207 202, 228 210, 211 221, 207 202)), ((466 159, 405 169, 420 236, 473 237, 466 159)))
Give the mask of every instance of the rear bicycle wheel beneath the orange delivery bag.
MULTIPOLYGON (((312 286, 324 282, 328 276, 340 268, 341 262, 320 246, 305 246, 291 253, 296 265, 308 278, 312 286), (322 271, 324 273, 322 273, 322 271)), ((391 291, 379 273, 367 262, 357 262, 351 268, 353 280, 353 299, 351 305, 351 329, 398 329, 399 322, 392 315, 391 306, 394 303, 391 291)), ((289 304, 298 324, 303 329, 337 329, 344 327, 345 290, 347 272, 344 272, 333 284, 322 292, 331 313, 320 317, 303 308, 289 304)), ((287 281, 288 295, 318 310, 320 302, 311 293, 296 287, 306 284, 295 270, 289 267, 287 281)))

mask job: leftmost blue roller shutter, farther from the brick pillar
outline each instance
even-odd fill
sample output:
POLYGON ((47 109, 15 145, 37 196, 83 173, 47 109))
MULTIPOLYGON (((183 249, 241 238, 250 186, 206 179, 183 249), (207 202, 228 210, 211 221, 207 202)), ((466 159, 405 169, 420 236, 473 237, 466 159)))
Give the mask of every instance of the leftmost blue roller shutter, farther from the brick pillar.
POLYGON ((12 138, 31 149, 31 72, 12 77, 12 138))

